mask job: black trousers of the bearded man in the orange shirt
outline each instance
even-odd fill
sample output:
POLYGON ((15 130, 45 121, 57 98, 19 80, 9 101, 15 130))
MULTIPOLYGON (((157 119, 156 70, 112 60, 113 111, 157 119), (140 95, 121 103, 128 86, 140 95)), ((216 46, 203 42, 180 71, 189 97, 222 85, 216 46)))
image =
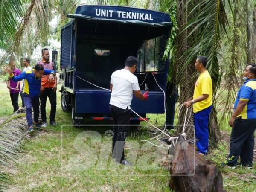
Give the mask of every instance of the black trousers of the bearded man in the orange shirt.
POLYGON ((53 91, 52 87, 44 88, 44 92, 40 93, 40 113, 43 122, 46 122, 47 119, 45 111, 47 97, 49 98, 51 103, 50 121, 54 121, 56 115, 56 92, 53 91))

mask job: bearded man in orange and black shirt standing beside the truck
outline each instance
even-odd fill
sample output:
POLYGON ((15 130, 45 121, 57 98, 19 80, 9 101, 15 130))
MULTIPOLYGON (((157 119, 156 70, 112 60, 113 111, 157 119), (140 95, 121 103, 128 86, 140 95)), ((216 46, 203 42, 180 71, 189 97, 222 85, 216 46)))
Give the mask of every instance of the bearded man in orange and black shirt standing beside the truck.
MULTIPOLYGON (((55 71, 54 63, 50 61, 50 53, 47 48, 42 49, 42 60, 38 61, 37 64, 41 64, 44 69, 50 69, 55 71)), ((50 112, 50 125, 58 125, 55 122, 56 114, 56 89, 57 89, 57 77, 54 75, 54 81, 49 81, 49 75, 44 75, 41 79, 41 89, 40 89, 40 112, 41 119, 43 121, 42 127, 47 126, 46 118, 46 101, 47 97, 51 103, 51 112, 50 112)))

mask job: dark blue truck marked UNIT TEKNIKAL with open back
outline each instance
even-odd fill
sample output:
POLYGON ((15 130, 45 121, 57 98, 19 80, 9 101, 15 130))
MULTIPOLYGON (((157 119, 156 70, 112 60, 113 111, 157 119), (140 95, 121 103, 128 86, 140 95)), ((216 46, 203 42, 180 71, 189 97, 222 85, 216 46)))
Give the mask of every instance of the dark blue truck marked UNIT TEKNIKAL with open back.
MULTIPOLYGON (((135 75, 140 89, 143 93, 149 90, 150 95, 146 101, 134 98, 131 108, 143 118, 147 113, 164 113, 169 59, 162 57, 172 27, 168 14, 124 6, 81 5, 67 17, 73 19, 61 28, 61 107, 71 111, 74 125, 86 118, 111 119, 111 93, 93 84, 109 89, 111 74, 122 69, 130 55, 139 61, 135 75)), ((131 123, 141 120, 131 113, 131 123)))

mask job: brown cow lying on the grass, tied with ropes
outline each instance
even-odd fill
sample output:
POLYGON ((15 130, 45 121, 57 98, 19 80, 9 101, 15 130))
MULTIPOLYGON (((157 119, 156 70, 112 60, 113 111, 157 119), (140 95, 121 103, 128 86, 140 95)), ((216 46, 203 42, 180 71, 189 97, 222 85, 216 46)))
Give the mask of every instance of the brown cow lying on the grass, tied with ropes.
POLYGON ((182 135, 173 150, 169 182, 175 192, 223 192, 221 172, 195 151, 182 135))

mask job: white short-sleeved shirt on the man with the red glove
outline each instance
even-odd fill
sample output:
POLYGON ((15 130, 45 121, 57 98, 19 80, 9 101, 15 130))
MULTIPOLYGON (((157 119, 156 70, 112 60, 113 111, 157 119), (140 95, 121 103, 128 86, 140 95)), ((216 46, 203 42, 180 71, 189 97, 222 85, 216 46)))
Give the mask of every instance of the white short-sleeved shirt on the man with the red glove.
POLYGON ((121 109, 131 109, 133 91, 140 90, 138 78, 129 70, 121 69, 112 73, 110 83, 113 88, 109 104, 121 109))

